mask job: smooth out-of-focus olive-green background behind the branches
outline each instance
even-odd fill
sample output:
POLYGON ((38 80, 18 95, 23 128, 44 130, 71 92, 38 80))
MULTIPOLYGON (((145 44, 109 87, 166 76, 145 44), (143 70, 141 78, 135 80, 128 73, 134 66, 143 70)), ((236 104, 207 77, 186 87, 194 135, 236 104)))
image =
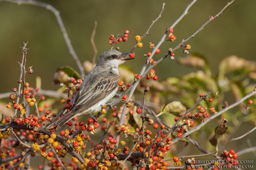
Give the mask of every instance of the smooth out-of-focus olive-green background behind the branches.
MULTIPOLYGON (((192 0, 169 0, 169 1, 135 1, 135 0, 113 0, 113 1, 41 1, 51 4, 58 11, 66 27, 76 54, 83 63, 91 61, 93 49, 90 38, 94 21, 98 22, 95 34, 95 44, 98 49, 97 57, 104 51, 111 48, 108 44, 110 34, 124 33, 130 31, 128 41, 118 43, 121 52, 128 52, 135 44, 134 37, 146 33, 152 20, 159 15, 162 3, 165 2, 162 17, 156 21, 147 35, 141 42, 141 49, 135 48, 136 60, 125 63, 134 72, 139 73, 145 62, 143 54, 151 52, 149 42, 159 42, 165 32, 165 28, 183 13, 188 3, 192 0)), ((177 37, 175 42, 166 41, 159 48, 160 53, 154 56, 157 60, 166 54, 168 48, 175 47, 182 39, 187 39, 198 30, 208 19, 215 16, 225 5, 223 0, 198 0, 190 9, 180 23, 174 27, 173 34, 177 37)), ((220 61, 230 55, 237 55, 246 60, 256 60, 254 46, 256 45, 256 18, 255 0, 236 0, 220 14, 219 18, 210 22, 192 40, 187 43, 192 46, 190 53, 200 53, 207 57, 213 74, 218 73, 220 61)), ((17 80, 20 75, 23 41, 27 42, 28 54, 26 66, 33 66, 34 74, 26 76, 30 86, 36 85, 35 78, 42 79, 42 89, 56 90, 59 85, 53 85, 53 74, 58 67, 71 66, 78 70, 76 63, 69 54, 63 34, 57 23, 54 14, 45 8, 0 1, 0 93, 10 92, 17 87, 17 80)), ((115 48, 114 48, 115 49, 115 48)), ((182 50, 175 51, 175 59, 184 57, 182 50)), ((181 77, 197 69, 188 68, 166 59, 155 68, 158 79, 178 76, 181 77)), ((230 95, 230 93, 229 93, 230 95)), ((226 98, 226 96, 225 96, 226 98)), ((233 100, 233 99, 230 99, 233 100)), ((231 104, 231 103, 230 103, 231 104)), ((218 123, 212 125, 215 128, 218 123)), ((244 123, 242 130, 235 133, 238 137, 245 133, 246 129, 252 129, 253 125, 244 123), (243 129, 244 128, 244 129, 243 129)), ((255 133, 254 133, 255 134, 255 133)), ((207 136, 203 132, 202 136, 207 136)), ((251 141, 255 137, 248 136, 251 141)), ((201 143, 202 144, 202 143, 201 143)), ((248 148, 246 139, 239 140, 229 145, 228 149, 239 150, 248 148)), ((183 144, 177 145, 183 147, 183 144)), ((202 144, 204 148, 207 144, 202 144)), ((253 145, 254 146, 254 145, 253 145)), ((183 150, 176 150, 176 153, 189 151, 190 154, 200 154, 195 147, 186 147, 183 150)), ((182 153, 179 156, 184 155, 182 153)), ((244 159, 254 159, 252 153, 243 156, 244 159), (252 158, 253 157, 253 158, 252 158)), ((200 158, 203 159, 203 158, 200 158)), ((212 157, 209 157, 212 159, 212 157)))

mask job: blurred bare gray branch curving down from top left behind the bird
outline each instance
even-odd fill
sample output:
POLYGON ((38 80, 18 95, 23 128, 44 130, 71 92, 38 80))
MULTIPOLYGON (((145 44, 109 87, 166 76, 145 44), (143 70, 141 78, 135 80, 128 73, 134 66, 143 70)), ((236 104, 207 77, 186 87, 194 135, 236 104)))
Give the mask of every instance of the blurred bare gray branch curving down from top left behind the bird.
POLYGON ((58 10, 56 10, 52 5, 50 4, 46 4, 46 3, 43 3, 43 2, 39 2, 39 1, 34 1, 34 0, 2 0, 2 1, 8 1, 8 2, 13 2, 13 3, 18 3, 18 4, 31 4, 31 5, 36 5, 36 6, 41 6, 41 7, 44 7, 46 8, 47 10, 50 10, 53 12, 53 14, 55 15, 56 19, 57 19, 57 22, 60 26, 60 29, 63 33, 63 37, 66 41, 66 44, 68 46, 68 49, 69 49, 69 53, 73 56, 73 58, 75 59, 76 61, 76 64, 80 70, 80 73, 81 73, 81 77, 85 77, 85 74, 84 74, 84 67, 83 65, 81 64, 78 56, 76 55, 76 52, 70 42, 70 39, 68 37, 68 33, 67 33, 67 30, 62 22, 62 19, 60 17, 60 12, 58 10))

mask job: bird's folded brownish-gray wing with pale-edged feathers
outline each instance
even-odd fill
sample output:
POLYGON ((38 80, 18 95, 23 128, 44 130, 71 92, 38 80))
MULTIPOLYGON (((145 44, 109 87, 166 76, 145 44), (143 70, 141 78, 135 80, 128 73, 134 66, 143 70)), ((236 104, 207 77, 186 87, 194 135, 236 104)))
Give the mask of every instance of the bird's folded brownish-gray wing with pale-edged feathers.
POLYGON ((116 89, 119 80, 120 76, 117 74, 106 75, 91 89, 77 94, 72 110, 79 113, 95 105, 116 89))

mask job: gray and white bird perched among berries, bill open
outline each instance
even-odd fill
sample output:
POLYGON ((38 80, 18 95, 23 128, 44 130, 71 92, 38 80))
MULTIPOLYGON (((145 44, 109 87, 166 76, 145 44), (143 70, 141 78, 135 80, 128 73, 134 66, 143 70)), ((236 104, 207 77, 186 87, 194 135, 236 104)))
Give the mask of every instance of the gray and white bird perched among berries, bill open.
POLYGON ((133 52, 121 53, 113 49, 102 53, 96 66, 85 76, 70 111, 60 119, 51 122, 46 129, 57 126, 56 130, 58 130, 76 116, 99 112, 118 90, 120 81, 118 67, 125 61, 135 59, 124 58, 130 54, 133 52))

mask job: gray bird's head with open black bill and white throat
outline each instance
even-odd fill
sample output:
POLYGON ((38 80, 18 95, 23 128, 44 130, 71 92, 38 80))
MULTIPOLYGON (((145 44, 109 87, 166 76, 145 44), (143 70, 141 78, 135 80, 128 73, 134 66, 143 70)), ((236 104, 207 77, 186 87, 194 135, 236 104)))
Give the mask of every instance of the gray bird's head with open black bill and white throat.
POLYGON ((108 67, 115 67, 117 68, 121 64, 123 64, 127 60, 132 60, 135 58, 124 58, 124 56, 133 54, 132 52, 129 53, 120 53, 116 50, 108 50, 100 55, 99 61, 97 63, 100 65, 106 65, 108 67))

